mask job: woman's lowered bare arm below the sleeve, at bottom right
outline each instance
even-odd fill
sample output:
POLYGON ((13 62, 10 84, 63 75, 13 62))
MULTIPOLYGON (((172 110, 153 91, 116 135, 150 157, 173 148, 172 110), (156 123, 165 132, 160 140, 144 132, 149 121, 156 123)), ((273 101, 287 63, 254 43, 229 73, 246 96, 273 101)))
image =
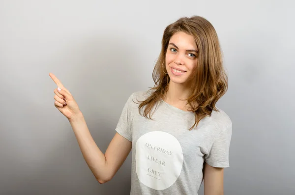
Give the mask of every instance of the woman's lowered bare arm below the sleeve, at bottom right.
POLYGON ((205 163, 204 195, 224 195, 223 175, 224 168, 211 167, 205 163))

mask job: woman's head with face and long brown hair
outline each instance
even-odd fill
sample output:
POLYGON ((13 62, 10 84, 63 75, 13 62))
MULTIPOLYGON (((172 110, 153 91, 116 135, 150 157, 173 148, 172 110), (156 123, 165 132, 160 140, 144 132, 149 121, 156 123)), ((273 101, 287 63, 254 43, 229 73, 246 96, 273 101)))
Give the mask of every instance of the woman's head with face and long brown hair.
POLYGON ((228 81, 218 36, 211 23, 203 17, 193 16, 170 24, 164 30, 153 80, 153 94, 140 105, 140 108, 147 106, 146 116, 152 108, 149 105, 154 106, 164 97, 170 82, 190 89, 187 101, 196 114, 195 125, 212 110, 217 111, 215 104, 226 92, 228 81))

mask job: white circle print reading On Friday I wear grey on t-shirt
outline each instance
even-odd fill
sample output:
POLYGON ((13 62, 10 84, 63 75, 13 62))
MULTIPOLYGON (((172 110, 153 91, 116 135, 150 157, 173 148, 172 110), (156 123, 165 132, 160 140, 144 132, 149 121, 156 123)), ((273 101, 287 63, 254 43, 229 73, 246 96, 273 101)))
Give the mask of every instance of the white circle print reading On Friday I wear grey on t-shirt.
POLYGON ((149 188, 164 190, 179 177, 183 153, 174 136, 154 131, 137 140, 135 160, 138 179, 149 188))

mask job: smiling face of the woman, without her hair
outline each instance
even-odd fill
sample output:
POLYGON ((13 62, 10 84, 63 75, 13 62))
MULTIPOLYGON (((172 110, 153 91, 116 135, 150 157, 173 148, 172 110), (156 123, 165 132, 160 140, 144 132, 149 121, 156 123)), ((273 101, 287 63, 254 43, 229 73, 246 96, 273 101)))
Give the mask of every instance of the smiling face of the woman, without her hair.
POLYGON ((193 36, 180 31, 170 38, 165 65, 171 82, 188 84, 197 67, 197 52, 193 36))

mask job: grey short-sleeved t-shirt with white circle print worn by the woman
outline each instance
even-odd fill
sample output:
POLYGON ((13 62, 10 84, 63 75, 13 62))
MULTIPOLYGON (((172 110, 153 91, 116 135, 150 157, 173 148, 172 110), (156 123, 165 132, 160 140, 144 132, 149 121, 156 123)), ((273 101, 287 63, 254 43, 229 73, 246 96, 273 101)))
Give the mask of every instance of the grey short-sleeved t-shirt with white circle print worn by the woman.
POLYGON ((219 109, 189 130, 194 114, 160 101, 151 120, 135 103, 148 95, 140 91, 129 97, 116 128, 132 141, 130 195, 198 195, 204 161, 229 167, 231 119, 219 109))

